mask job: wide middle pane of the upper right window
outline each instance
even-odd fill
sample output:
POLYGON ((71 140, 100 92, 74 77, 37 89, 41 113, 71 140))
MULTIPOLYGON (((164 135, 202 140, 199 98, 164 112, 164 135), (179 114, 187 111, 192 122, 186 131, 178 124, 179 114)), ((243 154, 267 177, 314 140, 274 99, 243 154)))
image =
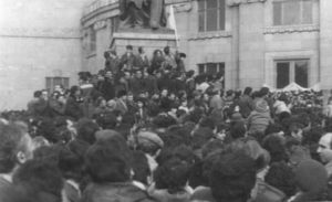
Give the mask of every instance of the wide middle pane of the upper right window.
POLYGON ((283 24, 300 24, 300 2, 289 1, 283 2, 283 24))

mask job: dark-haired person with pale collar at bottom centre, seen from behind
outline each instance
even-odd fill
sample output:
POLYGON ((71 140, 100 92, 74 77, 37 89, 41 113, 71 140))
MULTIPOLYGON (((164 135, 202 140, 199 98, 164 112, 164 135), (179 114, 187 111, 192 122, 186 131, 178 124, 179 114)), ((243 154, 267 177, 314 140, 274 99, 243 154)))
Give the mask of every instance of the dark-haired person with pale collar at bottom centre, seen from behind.
POLYGON ((148 194, 160 202, 189 202, 193 190, 187 185, 188 178, 187 162, 172 158, 154 172, 155 183, 148 188, 148 194))

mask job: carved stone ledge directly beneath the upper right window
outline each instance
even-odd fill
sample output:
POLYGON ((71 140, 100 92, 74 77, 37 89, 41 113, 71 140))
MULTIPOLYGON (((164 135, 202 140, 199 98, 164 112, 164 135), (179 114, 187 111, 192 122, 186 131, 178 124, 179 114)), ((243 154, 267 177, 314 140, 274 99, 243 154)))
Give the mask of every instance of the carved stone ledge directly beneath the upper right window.
POLYGON ((263 30, 263 34, 283 34, 283 33, 294 33, 294 32, 319 32, 319 31, 320 31, 320 26, 318 24, 267 26, 263 30))

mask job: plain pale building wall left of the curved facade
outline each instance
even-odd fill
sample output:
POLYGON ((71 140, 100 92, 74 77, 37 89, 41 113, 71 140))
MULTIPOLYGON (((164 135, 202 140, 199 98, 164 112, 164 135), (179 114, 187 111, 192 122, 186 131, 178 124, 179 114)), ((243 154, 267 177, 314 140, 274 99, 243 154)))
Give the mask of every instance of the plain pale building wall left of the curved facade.
POLYGON ((45 77, 81 71, 84 0, 0 1, 0 110, 23 109, 45 77))

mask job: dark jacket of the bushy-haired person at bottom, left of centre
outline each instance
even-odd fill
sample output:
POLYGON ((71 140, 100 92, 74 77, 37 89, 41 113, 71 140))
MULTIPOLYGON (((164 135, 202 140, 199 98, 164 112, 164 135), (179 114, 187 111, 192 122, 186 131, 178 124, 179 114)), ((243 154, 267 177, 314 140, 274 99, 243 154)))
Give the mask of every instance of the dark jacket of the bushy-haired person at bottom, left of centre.
POLYGON ((105 183, 89 184, 82 195, 82 202, 153 202, 147 193, 134 184, 105 183))

